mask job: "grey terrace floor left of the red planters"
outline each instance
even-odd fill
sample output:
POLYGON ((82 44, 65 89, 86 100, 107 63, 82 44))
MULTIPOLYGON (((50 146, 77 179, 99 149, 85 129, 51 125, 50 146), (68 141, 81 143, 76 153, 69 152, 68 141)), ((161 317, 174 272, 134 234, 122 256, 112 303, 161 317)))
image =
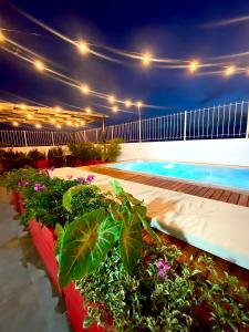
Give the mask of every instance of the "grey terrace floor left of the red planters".
POLYGON ((30 236, 14 218, 10 195, 0 187, 0 331, 69 332, 59 300, 30 236))

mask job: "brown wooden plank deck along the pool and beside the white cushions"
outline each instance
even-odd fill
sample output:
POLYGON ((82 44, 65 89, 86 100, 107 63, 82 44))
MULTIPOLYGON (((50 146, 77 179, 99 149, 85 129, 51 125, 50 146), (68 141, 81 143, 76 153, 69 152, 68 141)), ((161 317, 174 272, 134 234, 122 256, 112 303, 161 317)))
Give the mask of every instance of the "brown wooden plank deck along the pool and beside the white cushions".
MULTIPOLYGON (((129 180, 129 181, 145 184, 158 188, 181 191, 198 197, 205 197, 209 199, 225 201, 228 204, 236 204, 236 205, 249 207, 249 194, 219 189, 219 188, 214 188, 208 186, 194 185, 186 181, 167 179, 160 176, 151 176, 151 175, 135 174, 132 172, 123 172, 123 170, 108 168, 104 166, 87 166, 84 167, 84 169, 98 173, 98 174, 108 175, 111 177, 115 177, 124 180, 129 180)), ((249 290, 249 270, 240 268, 221 258, 215 257, 189 243, 186 243, 168 235, 162 234, 160 231, 158 231, 158 234, 166 243, 176 245, 183 252, 183 256, 180 257, 181 262, 188 261, 191 266, 197 266, 198 264, 197 260, 199 256, 207 255, 209 257, 212 257, 216 264, 216 270, 220 277, 224 276, 225 271, 232 276, 236 276, 239 280, 239 284, 246 287, 249 290)), ((153 239, 146 231, 144 231, 143 239, 146 242, 153 241, 153 239)), ((205 276, 205 277, 211 279, 211 276, 205 276)))

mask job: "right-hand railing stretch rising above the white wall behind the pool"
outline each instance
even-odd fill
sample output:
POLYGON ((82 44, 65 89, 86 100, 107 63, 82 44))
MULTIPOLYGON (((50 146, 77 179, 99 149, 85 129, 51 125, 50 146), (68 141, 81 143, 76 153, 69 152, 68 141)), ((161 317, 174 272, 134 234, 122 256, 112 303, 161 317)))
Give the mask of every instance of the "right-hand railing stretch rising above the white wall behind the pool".
POLYGON ((249 134, 249 102, 144 118, 103 128, 76 133, 76 141, 103 142, 123 138, 124 142, 186 141, 245 138, 249 134))

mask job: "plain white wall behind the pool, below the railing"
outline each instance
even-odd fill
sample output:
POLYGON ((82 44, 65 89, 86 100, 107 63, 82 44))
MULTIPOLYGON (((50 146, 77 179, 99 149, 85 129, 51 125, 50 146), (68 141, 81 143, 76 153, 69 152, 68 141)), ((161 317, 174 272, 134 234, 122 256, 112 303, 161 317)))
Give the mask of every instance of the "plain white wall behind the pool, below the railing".
POLYGON ((118 162, 131 159, 249 166, 249 139, 124 143, 118 162))

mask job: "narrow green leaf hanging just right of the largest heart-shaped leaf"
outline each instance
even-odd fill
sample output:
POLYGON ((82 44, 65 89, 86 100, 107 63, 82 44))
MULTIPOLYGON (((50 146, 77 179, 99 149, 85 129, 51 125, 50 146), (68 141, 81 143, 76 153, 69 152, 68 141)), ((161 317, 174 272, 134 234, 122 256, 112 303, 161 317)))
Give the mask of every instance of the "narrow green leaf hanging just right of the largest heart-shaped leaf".
POLYGON ((120 252, 122 262, 127 272, 132 272, 137 264, 142 252, 142 228, 141 220, 134 214, 125 220, 121 230, 120 252))

